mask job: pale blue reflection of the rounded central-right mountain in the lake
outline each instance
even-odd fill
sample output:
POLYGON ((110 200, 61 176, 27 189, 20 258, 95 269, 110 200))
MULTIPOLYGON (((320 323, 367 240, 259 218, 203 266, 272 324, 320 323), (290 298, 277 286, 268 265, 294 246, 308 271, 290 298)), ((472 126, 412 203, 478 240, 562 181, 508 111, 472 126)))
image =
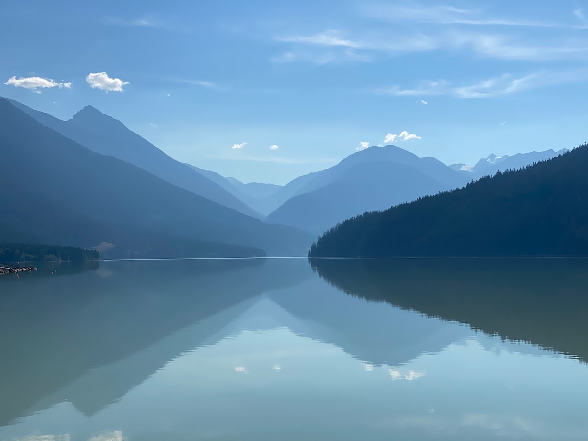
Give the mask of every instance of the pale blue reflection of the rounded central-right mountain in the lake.
POLYGON ((294 332, 332 343, 374 365, 402 365, 472 335, 470 328, 456 323, 358 301, 318 278, 268 296, 298 319, 298 323, 285 323, 294 332), (305 328, 300 326, 302 321, 305 328))

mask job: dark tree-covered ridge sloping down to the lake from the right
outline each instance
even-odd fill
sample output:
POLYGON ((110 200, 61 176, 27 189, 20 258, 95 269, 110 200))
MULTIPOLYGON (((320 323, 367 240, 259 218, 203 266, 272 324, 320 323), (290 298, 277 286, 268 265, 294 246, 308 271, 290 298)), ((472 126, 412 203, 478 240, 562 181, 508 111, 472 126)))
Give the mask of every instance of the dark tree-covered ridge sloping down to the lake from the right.
POLYGON ((519 171, 358 215, 310 257, 588 255, 588 145, 519 171))

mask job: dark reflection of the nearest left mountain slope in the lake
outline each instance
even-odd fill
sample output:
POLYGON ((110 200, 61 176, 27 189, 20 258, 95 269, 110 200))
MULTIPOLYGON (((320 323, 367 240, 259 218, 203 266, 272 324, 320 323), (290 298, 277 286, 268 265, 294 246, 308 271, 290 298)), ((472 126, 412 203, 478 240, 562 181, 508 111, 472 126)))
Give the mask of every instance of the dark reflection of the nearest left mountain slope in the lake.
MULTIPOLYGON (((300 263, 284 272, 278 260, 263 259, 102 262, 99 273, 6 280, 0 426, 91 368, 128 358, 263 290, 298 283, 308 273, 300 263)), ((137 376, 135 384, 145 379, 137 376)))

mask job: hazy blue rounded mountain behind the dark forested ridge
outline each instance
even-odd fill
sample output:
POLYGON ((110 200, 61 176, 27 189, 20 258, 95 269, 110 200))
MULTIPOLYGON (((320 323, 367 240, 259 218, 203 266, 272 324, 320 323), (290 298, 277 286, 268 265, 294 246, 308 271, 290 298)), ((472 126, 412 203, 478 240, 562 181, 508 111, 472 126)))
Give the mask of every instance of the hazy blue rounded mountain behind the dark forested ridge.
POLYGON ((358 213, 384 210, 466 183, 465 176, 434 158, 419 158, 393 145, 373 146, 314 173, 266 221, 321 234, 358 213))

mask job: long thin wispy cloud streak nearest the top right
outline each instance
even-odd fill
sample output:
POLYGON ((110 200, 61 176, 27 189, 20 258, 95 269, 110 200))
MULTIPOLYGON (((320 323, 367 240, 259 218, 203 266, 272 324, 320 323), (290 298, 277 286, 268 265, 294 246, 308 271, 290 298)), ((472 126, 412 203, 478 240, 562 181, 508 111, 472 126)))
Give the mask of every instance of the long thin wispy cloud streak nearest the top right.
POLYGON ((413 21, 443 25, 559 26, 541 20, 496 18, 486 16, 481 9, 464 9, 443 5, 401 6, 380 4, 364 6, 362 9, 363 13, 371 18, 384 19, 391 22, 413 21))

